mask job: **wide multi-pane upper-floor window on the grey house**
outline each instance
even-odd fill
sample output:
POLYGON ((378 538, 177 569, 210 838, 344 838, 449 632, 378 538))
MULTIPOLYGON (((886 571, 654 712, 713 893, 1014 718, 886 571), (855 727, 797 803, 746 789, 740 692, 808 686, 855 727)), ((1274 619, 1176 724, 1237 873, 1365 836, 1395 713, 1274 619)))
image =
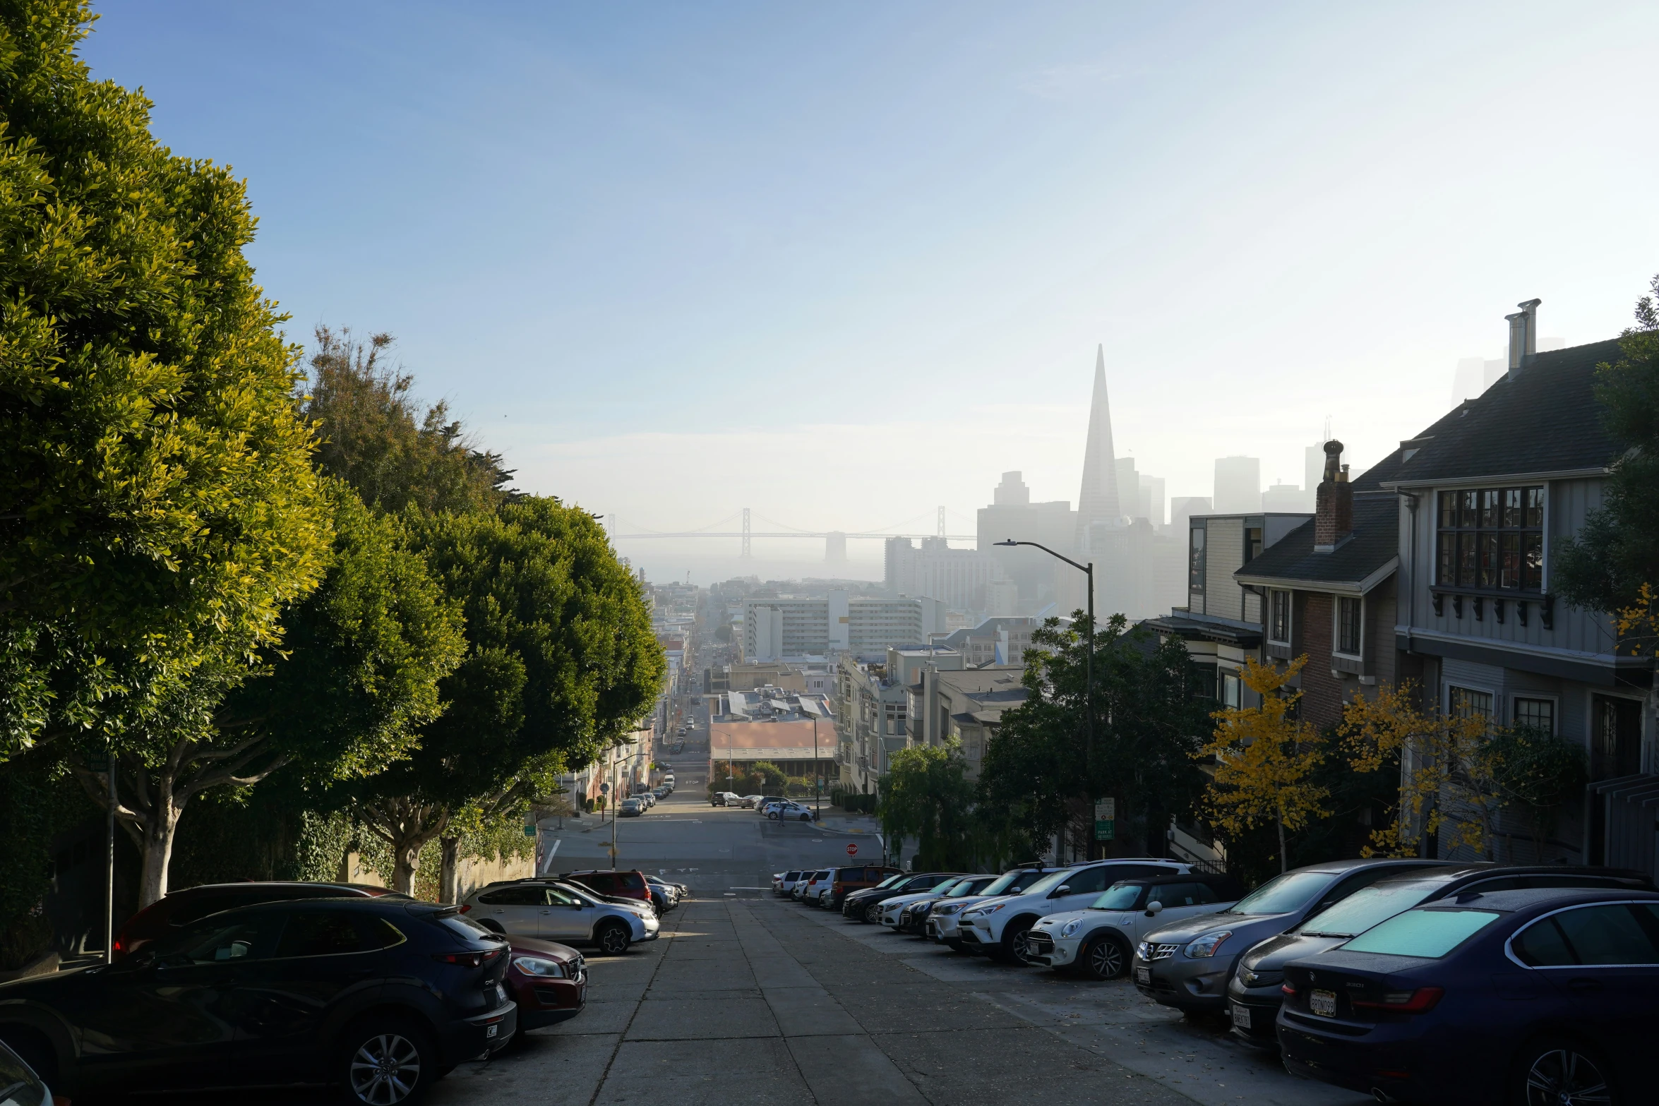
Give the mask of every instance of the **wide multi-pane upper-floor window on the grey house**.
POLYGON ((1440 587, 1543 590, 1545 489, 1440 492, 1440 587))

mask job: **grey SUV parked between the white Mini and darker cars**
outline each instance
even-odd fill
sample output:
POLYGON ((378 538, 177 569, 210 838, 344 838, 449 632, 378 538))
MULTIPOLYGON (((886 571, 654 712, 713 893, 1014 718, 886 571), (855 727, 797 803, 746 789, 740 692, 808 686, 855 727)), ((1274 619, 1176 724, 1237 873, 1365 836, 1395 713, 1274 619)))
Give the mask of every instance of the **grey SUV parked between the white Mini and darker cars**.
POLYGON ((1148 998, 1193 1013, 1221 1013, 1228 980, 1246 950, 1380 879, 1452 861, 1331 861, 1296 867, 1234 902, 1150 930, 1135 947, 1135 988, 1148 998))

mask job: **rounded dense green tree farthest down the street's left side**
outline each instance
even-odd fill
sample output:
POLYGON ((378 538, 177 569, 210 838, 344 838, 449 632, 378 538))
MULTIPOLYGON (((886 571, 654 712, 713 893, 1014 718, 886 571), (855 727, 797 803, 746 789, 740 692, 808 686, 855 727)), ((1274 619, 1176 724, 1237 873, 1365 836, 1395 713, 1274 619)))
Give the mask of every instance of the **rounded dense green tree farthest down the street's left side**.
POLYGON ((466 655, 440 683, 448 710, 420 748, 350 784, 400 890, 463 809, 489 822, 619 745, 667 672, 639 582, 587 512, 526 496, 496 514, 410 516, 410 527, 461 604, 466 655))

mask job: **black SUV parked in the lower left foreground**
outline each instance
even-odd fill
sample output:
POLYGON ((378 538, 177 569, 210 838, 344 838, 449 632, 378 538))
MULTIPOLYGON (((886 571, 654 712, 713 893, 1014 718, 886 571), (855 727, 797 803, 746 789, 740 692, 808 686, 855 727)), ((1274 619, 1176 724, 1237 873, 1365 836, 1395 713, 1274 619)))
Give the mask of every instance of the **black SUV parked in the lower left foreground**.
POLYGON ((513 1040, 508 957, 455 907, 267 902, 109 967, 8 985, 0 1041, 73 1098, 338 1084, 348 1101, 397 1106, 513 1040))

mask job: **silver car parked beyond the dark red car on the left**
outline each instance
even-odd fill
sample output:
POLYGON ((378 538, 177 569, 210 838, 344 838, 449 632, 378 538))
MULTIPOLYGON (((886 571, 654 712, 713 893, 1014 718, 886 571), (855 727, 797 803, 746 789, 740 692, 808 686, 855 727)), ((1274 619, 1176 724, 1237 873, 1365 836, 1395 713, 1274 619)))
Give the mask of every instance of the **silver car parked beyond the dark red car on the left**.
POLYGON ((496 934, 592 943, 611 957, 637 942, 657 940, 657 912, 649 904, 606 900, 582 884, 521 880, 483 887, 461 899, 460 909, 496 934))

